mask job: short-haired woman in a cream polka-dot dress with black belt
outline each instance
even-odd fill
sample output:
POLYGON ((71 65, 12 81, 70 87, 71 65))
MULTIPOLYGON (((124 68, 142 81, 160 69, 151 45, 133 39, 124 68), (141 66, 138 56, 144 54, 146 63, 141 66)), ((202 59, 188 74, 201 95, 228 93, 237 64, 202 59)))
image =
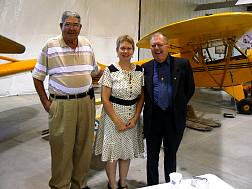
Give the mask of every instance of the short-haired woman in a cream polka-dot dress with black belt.
POLYGON ((101 154, 108 176, 108 189, 128 188, 130 160, 143 154, 142 128, 138 124, 143 106, 143 72, 130 62, 134 40, 120 36, 116 41, 119 62, 108 66, 99 81, 103 109, 97 132, 95 154, 101 154), (116 167, 119 165, 119 181, 116 167))

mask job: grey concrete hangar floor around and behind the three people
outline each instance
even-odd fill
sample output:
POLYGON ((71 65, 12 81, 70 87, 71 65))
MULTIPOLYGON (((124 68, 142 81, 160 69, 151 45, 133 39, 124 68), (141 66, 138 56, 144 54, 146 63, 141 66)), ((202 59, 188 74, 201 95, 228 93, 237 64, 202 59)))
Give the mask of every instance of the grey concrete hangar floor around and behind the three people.
MULTIPOLYGON (((198 116, 220 120, 222 127, 210 132, 186 128, 178 152, 178 172, 183 178, 212 173, 236 189, 252 188, 252 115, 234 113, 230 97, 220 91, 197 90, 191 104, 198 116)), ((45 189, 50 178, 50 149, 41 138, 47 129, 47 113, 37 95, 0 98, 0 189, 45 189)), ((161 154, 161 162, 162 162, 161 154)), ((146 185, 146 160, 131 163, 131 189, 146 185)), ((163 179, 160 164, 160 182, 163 179)), ((94 157, 88 185, 105 189, 103 163, 94 157)))

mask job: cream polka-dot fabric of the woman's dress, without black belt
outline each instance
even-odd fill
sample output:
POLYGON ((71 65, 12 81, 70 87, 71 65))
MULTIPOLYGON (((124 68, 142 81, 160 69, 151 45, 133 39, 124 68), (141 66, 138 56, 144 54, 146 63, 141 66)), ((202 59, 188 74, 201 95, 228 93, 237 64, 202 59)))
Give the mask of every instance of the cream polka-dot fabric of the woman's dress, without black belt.
MULTIPOLYGON (((133 100, 141 94, 143 73, 134 69, 124 71, 118 64, 114 64, 116 71, 104 70, 99 83, 111 88, 111 96, 133 100)), ((112 103, 117 115, 126 123, 135 114, 136 104, 124 106, 112 103)), ((133 159, 142 157, 144 152, 142 128, 138 126, 123 132, 118 132, 116 126, 102 109, 100 125, 96 135, 95 154, 102 154, 102 161, 118 159, 133 159)))

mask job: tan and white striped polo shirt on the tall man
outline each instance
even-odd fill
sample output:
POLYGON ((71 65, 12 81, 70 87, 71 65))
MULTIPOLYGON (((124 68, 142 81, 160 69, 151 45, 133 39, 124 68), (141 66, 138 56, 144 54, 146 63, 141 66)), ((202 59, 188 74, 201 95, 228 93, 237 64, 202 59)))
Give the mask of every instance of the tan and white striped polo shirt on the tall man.
POLYGON ((68 95, 88 91, 91 72, 98 72, 90 42, 78 37, 75 49, 66 45, 62 35, 48 40, 38 58, 32 76, 44 81, 49 75, 50 94, 68 95))

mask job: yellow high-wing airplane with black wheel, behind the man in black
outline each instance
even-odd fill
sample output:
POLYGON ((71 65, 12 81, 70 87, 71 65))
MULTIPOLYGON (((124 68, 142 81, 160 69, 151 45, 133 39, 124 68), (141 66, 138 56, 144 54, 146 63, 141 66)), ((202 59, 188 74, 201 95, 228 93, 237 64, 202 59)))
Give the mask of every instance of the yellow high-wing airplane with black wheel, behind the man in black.
POLYGON ((237 101, 239 113, 252 113, 252 100, 246 99, 242 84, 252 81, 252 49, 236 45, 252 29, 252 13, 222 13, 192 18, 161 27, 138 41, 150 48, 153 33, 169 39, 172 56, 189 59, 197 87, 218 87, 237 101))

